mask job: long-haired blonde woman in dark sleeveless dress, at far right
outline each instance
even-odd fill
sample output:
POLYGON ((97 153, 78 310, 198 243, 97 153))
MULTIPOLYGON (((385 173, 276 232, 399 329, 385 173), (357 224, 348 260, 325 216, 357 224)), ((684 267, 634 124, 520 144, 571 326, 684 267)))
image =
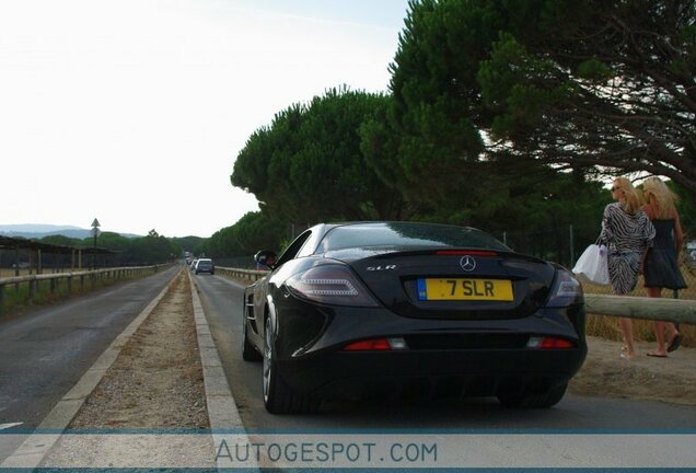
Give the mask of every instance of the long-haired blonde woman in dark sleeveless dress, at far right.
MULTIPOLYGON (((643 184, 646 205, 643 211, 656 228, 653 246, 648 251, 643 267, 648 296, 659 298, 662 289, 684 289, 686 284, 678 266, 678 254, 684 243, 684 232, 676 211, 676 195, 659 177, 648 177, 643 184)), ((654 335, 658 347, 648 356, 664 358, 682 343, 682 335, 671 322, 656 321, 654 335), (669 343, 665 342, 665 332, 669 343)))

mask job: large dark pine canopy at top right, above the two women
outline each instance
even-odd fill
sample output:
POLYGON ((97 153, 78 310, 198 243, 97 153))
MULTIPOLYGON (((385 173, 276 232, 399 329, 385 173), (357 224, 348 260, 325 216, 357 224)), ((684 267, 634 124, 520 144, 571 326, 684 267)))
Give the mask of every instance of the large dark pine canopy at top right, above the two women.
POLYGON ((696 192, 693 0, 409 4, 386 130, 399 180, 534 159, 696 192))

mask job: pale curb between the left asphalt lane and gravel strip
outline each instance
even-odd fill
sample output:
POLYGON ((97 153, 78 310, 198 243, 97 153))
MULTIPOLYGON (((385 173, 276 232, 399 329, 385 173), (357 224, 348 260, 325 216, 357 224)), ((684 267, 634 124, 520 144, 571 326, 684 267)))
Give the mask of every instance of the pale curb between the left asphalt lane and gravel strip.
MULTIPOLYGON (((178 273, 177 273, 178 275, 178 273)), ((54 406, 42 423, 36 427, 36 430, 65 430, 70 422, 78 414, 78 411, 84 404, 86 397, 92 393, 94 388, 102 381, 104 374, 108 368, 114 364, 120 350, 128 343, 130 337, 138 331, 142 322, 150 315, 154 308, 160 303, 164 295, 170 290, 174 284, 176 276, 166 285, 164 289, 138 314, 138 316, 128 324, 128 326, 112 342, 112 344, 104 350, 102 355, 94 361, 94 364, 86 370, 86 372, 80 378, 74 387, 54 406)), ((43 461, 44 457, 48 454, 50 449, 56 445, 60 434, 45 435, 45 434, 32 434, 22 445, 2 463, 0 469, 7 468, 24 468, 34 469, 37 468, 43 461)))

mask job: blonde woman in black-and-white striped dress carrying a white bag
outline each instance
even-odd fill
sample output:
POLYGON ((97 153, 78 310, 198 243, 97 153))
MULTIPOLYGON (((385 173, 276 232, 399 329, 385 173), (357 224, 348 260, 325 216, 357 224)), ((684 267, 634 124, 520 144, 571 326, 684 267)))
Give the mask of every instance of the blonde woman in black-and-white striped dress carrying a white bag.
MULTIPOLYGON (((615 295, 627 295, 634 290, 638 274, 642 273, 648 247, 652 246, 654 227, 640 209, 641 197, 630 181, 617 177, 612 185, 612 197, 616 200, 604 208, 600 240, 608 247, 608 274, 615 295)), ((619 318, 624 334, 625 350, 622 358, 634 359, 634 326, 628 318, 619 318)))

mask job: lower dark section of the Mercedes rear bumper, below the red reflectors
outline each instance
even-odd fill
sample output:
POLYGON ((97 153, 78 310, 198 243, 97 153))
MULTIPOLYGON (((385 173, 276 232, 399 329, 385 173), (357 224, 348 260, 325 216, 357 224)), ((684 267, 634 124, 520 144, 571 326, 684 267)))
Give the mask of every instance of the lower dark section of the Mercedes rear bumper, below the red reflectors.
POLYGON ((332 399, 491 396, 570 380, 587 347, 571 349, 332 351, 280 364, 298 392, 332 399))

